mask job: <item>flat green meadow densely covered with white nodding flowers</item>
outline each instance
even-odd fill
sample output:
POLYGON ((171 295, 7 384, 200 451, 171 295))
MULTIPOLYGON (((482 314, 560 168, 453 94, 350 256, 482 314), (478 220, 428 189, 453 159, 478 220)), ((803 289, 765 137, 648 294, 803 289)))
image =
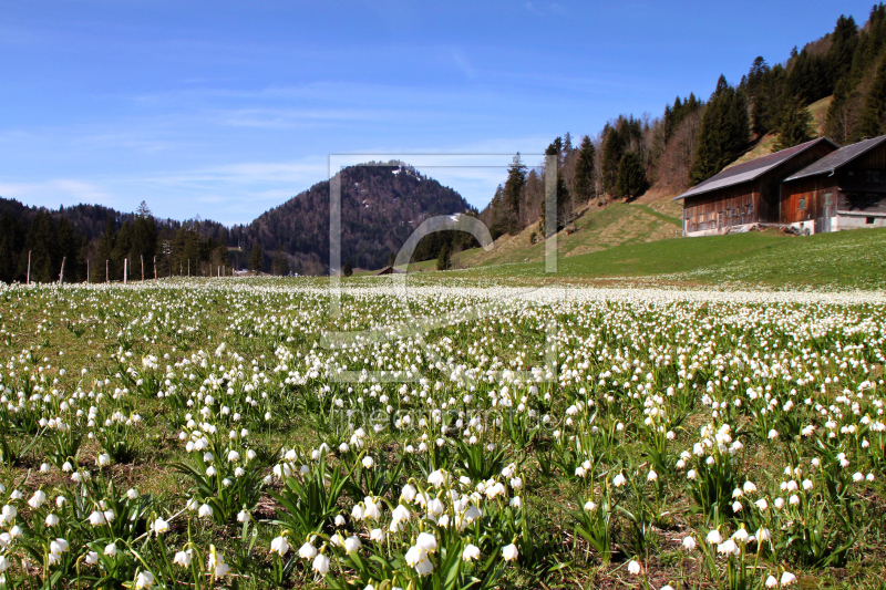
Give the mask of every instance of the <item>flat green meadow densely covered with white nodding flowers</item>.
POLYGON ((410 281, 0 287, 0 588, 884 586, 883 291, 410 281))

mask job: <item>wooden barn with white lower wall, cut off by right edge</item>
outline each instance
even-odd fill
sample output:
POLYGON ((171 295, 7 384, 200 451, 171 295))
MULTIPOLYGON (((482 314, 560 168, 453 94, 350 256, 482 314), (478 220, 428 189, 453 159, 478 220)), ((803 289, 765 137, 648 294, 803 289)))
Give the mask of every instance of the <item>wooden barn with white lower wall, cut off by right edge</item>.
POLYGON ((886 135, 842 147, 785 178, 781 224, 805 234, 886 227, 886 135))

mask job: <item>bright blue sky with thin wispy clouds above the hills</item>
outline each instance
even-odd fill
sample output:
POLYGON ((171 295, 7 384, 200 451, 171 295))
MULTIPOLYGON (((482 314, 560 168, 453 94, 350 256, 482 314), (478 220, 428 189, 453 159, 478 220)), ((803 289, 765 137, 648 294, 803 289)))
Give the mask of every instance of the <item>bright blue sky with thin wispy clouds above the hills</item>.
MULTIPOLYGON (((504 166, 708 96, 870 4, 2 0, 0 196, 248 222, 330 154, 504 166)), ((477 207, 504 175, 420 169, 477 207)))

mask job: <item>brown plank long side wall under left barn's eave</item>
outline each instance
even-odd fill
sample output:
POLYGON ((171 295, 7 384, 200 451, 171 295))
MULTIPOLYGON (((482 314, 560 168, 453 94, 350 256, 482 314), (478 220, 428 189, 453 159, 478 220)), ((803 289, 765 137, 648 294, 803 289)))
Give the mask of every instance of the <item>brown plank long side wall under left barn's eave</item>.
POLYGON ((754 183, 743 183, 683 200, 683 228, 705 231, 759 220, 760 193, 754 183))

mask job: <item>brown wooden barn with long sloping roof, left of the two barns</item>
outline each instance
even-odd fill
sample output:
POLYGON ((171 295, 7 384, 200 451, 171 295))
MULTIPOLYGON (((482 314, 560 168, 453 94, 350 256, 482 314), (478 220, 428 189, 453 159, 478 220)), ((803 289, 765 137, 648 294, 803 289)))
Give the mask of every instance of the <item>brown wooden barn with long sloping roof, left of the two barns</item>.
POLYGON ((753 224, 779 225, 782 180, 835 152, 826 137, 730 166, 674 200, 683 201, 683 235, 710 236, 753 224))

